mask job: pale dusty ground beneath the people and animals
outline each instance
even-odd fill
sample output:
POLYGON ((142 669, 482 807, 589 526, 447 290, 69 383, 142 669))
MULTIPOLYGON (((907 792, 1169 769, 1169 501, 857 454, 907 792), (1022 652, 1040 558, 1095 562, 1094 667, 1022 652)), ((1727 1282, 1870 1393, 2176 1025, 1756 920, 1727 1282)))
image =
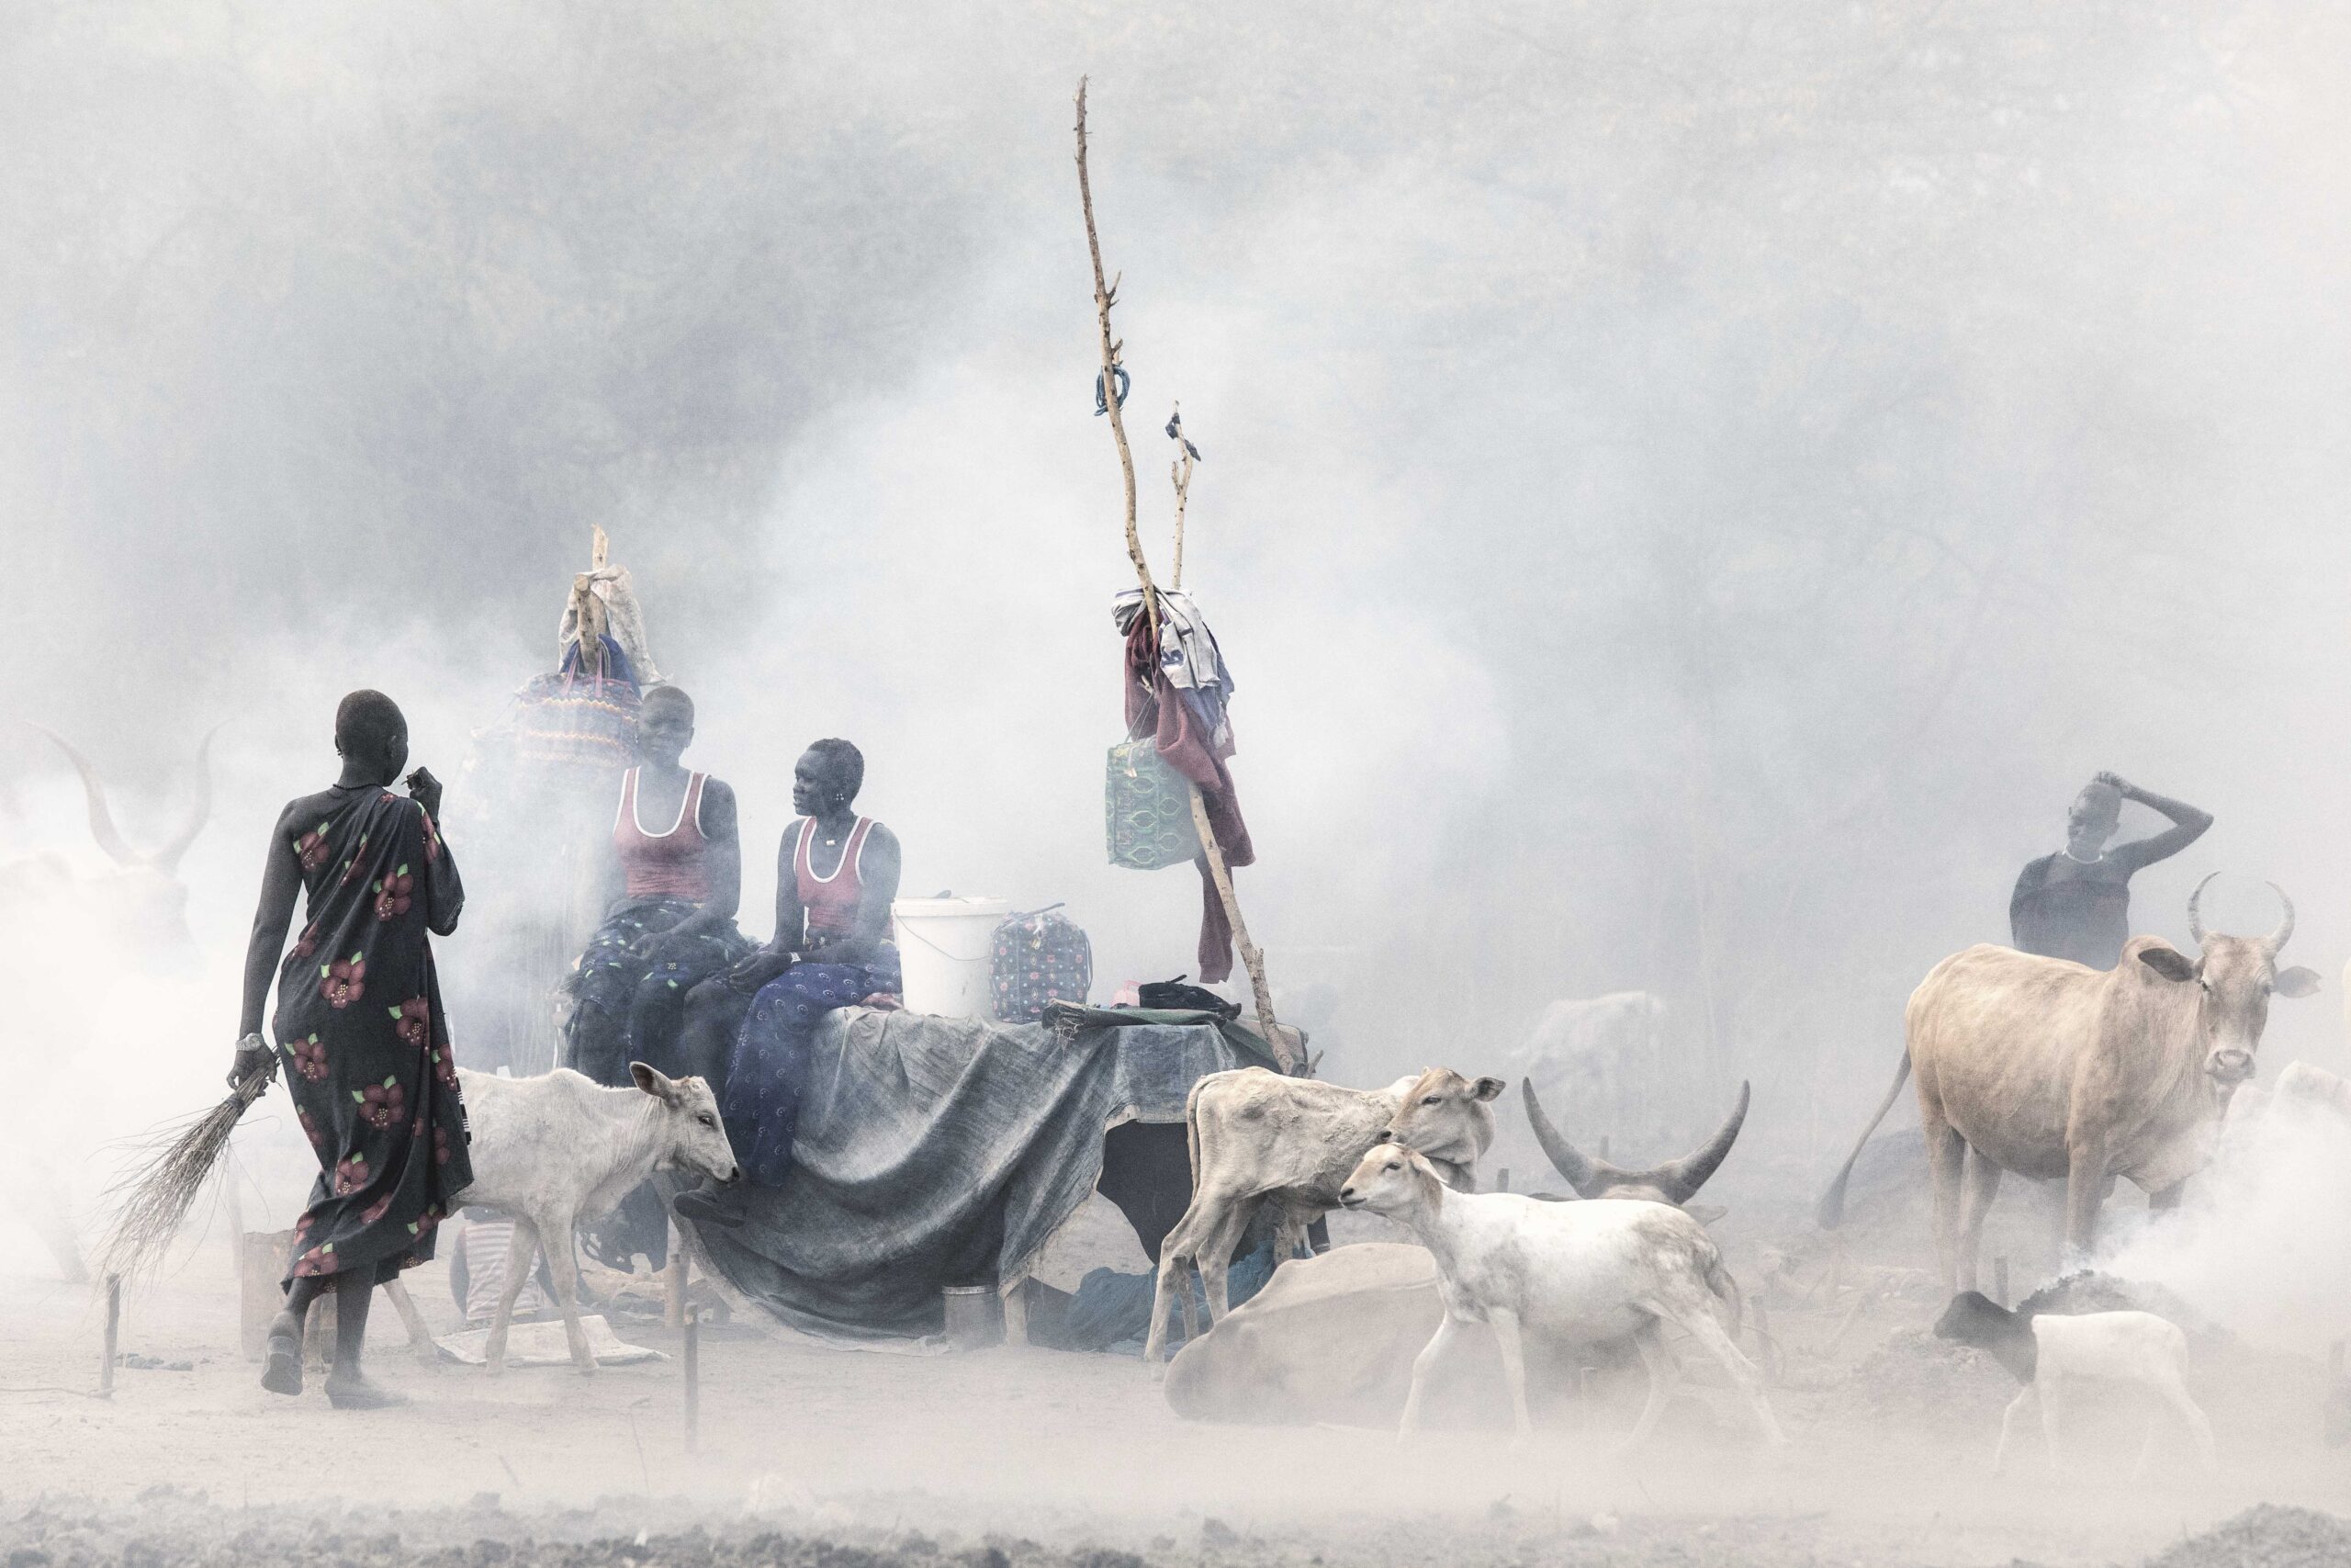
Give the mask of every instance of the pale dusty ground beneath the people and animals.
MULTIPOLYGON (((1086 1215, 1051 1274, 1131 1248, 1100 1220, 1086 1215)), ((2168 1448, 2132 1483, 2135 1443, 2111 1418, 2085 1425, 2074 1474, 2052 1479, 2034 1450, 1994 1481, 2012 1389, 1918 1333, 1937 1291, 1911 1262, 1735 1237, 1733 1255, 1766 1302, 1787 1458, 1766 1458, 1714 1389, 1632 1458, 1608 1453, 1629 1420, 1615 1408, 1570 1408, 1526 1448, 1458 1432, 1399 1450, 1387 1432, 1185 1425, 1114 1356, 868 1354, 748 1326, 705 1333, 703 1450, 689 1455, 677 1361, 595 1378, 426 1371, 388 1312, 371 1354, 411 1408, 263 1394, 235 1347, 228 1246, 202 1241, 132 1302, 122 1338, 188 1371, 125 1368, 110 1401, 92 1396, 89 1295, 0 1279, 0 1561, 2351 1561, 2318 1516, 2203 1535, 2255 1505, 2351 1514, 2351 1462, 2318 1441, 2316 1366, 2248 1352, 2201 1368, 2217 1479, 2168 1448), (2121 1462, 2095 1458, 2102 1439, 2121 1462)), ((435 1326, 454 1326, 440 1269, 411 1281, 435 1326)), ((658 1319, 616 1324, 677 1349, 658 1319)))

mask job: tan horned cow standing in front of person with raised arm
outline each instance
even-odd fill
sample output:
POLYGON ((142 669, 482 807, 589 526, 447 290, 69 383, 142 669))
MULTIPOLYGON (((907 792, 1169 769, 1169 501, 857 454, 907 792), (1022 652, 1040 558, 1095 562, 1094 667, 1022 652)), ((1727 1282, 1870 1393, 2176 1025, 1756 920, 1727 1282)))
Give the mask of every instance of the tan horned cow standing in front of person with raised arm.
POLYGON ((1918 1072, 1918 1121, 1935 1178, 1944 1288, 1975 1288, 1975 1253, 2001 1171, 2067 1178, 2067 1251, 2088 1255, 2118 1175, 2151 1208, 2179 1204, 2212 1157, 2229 1095, 2252 1077, 2269 999, 2309 997, 2318 976, 2278 969, 2295 905, 2269 936, 2210 936, 2189 898, 2198 959, 2135 936, 2111 971, 1977 945, 1937 964, 1904 1011, 1895 1086, 1862 1131, 1820 1222, 1836 1227, 1846 1180, 1902 1079, 1918 1072))

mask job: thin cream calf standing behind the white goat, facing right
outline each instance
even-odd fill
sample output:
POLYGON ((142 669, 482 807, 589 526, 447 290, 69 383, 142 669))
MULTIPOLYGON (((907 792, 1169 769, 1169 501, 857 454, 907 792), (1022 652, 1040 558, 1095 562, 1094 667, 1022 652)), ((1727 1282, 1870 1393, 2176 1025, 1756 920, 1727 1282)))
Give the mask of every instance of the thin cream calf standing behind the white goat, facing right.
POLYGON ((1185 1100, 1192 1201, 1159 1244, 1143 1359, 1166 1359, 1178 1298, 1192 1326, 1185 1269, 1199 1272, 1208 1321, 1225 1316, 1232 1248, 1258 1208, 1279 1204, 1274 1255, 1291 1258, 1307 1225, 1338 1206, 1340 1185, 1375 1143, 1406 1143, 1436 1164, 1446 1182, 1472 1187, 1476 1159, 1493 1143, 1493 1100, 1500 1093, 1502 1079, 1465 1079, 1451 1067, 1429 1067, 1387 1088, 1340 1088, 1265 1067, 1204 1077, 1185 1100))

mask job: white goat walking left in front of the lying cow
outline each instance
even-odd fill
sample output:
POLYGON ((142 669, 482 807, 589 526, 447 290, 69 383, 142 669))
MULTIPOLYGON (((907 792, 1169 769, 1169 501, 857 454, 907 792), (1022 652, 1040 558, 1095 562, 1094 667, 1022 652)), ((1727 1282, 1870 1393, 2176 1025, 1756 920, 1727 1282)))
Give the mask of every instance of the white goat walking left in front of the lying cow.
POLYGON ((1683 1211, 1641 1199, 1545 1204, 1514 1192, 1448 1192, 1427 1159, 1399 1145, 1366 1154, 1340 1204, 1396 1220, 1436 1258, 1446 1316, 1413 1361, 1399 1439, 1418 1429, 1429 1371, 1460 1326, 1493 1324, 1521 1439, 1535 1429, 1521 1331, 1573 1345, 1634 1342, 1648 1368, 1648 1403, 1627 1439, 1634 1446, 1655 1429, 1681 1378, 1665 1347, 1665 1326, 1674 1326, 1730 1373, 1766 1441, 1787 1443, 1763 1399, 1763 1375, 1714 1319, 1716 1302, 1737 1307, 1737 1286, 1707 1227, 1683 1211))

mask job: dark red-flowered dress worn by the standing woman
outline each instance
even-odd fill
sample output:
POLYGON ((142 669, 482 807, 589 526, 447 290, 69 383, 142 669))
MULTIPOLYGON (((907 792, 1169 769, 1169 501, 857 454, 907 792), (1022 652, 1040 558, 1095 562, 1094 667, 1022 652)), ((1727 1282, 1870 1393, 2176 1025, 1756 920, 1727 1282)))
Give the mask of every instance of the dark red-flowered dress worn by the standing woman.
POLYGON ((308 903, 273 1027, 320 1178, 287 1284, 355 1269, 383 1284, 433 1255, 433 1229, 473 1180, 428 940, 456 931, 465 889, 416 802, 339 788, 303 804, 308 903))

